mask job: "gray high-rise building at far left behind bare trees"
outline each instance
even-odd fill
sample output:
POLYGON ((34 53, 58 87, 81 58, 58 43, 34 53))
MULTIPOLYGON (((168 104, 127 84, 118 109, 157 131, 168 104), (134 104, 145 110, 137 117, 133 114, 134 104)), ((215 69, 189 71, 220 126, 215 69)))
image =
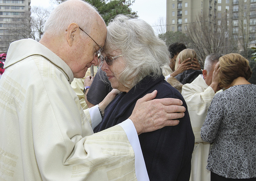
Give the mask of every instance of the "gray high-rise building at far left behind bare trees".
POLYGON ((0 53, 12 41, 30 36, 31 0, 0 0, 0 53))

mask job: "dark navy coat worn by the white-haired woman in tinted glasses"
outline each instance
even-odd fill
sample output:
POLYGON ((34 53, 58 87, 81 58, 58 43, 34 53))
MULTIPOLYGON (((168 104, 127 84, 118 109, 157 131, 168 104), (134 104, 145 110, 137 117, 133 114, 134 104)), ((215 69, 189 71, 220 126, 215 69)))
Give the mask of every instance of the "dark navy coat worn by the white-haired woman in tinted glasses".
POLYGON ((186 108, 185 116, 177 126, 139 135, 140 146, 151 181, 189 181, 191 155, 195 137, 190 124, 187 105, 182 95, 164 80, 146 77, 128 93, 122 92, 105 109, 103 120, 94 129, 99 132, 128 119, 136 101, 147 93, 157 90, 156 98, 178 98, 186 108))

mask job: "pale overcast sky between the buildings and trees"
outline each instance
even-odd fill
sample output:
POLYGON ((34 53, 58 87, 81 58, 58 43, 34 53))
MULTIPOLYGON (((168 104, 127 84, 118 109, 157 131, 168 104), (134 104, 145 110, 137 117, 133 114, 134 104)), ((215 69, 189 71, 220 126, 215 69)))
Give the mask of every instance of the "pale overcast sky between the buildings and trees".
MULTIPOLYGON (((51 0, 31 0, 31 6, 48 7, 51 0)), ((166 19, 166 0, 135 0, 131 6, 132 11, 137 11, 140 19, 151 26, 159 25, 159 18, 166 19)))

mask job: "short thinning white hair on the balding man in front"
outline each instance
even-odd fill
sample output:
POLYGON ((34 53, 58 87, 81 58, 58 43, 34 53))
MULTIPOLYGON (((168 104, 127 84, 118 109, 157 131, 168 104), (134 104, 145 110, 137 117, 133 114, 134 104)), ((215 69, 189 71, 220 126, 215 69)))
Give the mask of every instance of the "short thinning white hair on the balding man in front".
POLYGON ((96 21, 97 9, 81 0, 67 0, 51 12, 45 22, 45 33, 59 35, 68 25, 77 23, 86 33, 91 32, 91 25, 96 21))

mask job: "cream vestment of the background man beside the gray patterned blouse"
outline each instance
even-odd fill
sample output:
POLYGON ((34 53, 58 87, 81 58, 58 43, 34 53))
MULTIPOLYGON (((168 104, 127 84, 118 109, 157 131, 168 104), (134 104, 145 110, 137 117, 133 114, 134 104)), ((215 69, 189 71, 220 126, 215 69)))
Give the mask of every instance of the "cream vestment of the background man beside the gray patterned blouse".
POLYGON ((210 181, 210 171, 206 169, 210 143, 202 140, 200 131, 215 92, 205 83, 203 75, 199 75, 190 84, 182 86, 181 94, 187 103, 191 126, 195 135, 190 181, 210 181))

